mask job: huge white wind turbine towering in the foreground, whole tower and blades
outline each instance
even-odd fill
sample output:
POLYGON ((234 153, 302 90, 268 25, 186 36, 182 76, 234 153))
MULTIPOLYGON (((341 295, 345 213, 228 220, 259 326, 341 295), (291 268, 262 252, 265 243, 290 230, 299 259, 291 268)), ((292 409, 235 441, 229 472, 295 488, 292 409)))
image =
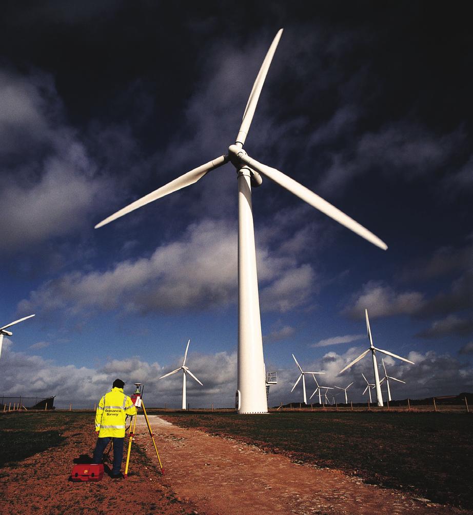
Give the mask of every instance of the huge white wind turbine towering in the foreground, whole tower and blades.
POLYGON ((311 192, 281 171, 252 159, 243 150, 252 118, 263 87, 269 65, 282 34, 278 31, 250 92, 243 120, 235 143, 228 147, 228 154, 219 156, 208 163, 188 171, 188 173, 161 186, 157 190, 132 202, 125 208, 102 220, 95 228, 102 227, 130 211, 141 208, 165 195, 194 184, 211 170, 228 163, 237 169, 238 177, 238 383, 235 393, 235 406, 239 413, 267 413, 266 388, 264 377, 263 342, 256 268, 255 232, 251 207, 251 186, 262 183, 261 175, 276 182, 303 201, 322 211, 369 242, 385 250, 387 245, 373 233, 342 213, 329 202, 311 192), (261 175, 260 175, 261 174, 261 175))

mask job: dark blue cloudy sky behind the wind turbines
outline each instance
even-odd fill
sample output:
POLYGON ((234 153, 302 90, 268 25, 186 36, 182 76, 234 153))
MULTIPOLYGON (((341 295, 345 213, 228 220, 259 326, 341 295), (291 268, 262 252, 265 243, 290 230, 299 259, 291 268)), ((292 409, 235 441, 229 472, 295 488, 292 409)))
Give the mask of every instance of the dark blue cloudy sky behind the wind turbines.
POLYGON ((291 354, 366 400, 369 356, 337 375, 368 348, 365 308, 374 345, 415 363, 385 359, 393 398, 473 391, 466 6, 4 3, 0 324, 36 316, 4 339, 0 394, 92 407, 120 377, 180 407, 180 374, 158 377, 190 339, 190 406, 234 404, 234 167, 94 226, 227 152, 281 27, 245 149, 388 249, 268 179, 252 192, 269 405, 302 401, 291 354))

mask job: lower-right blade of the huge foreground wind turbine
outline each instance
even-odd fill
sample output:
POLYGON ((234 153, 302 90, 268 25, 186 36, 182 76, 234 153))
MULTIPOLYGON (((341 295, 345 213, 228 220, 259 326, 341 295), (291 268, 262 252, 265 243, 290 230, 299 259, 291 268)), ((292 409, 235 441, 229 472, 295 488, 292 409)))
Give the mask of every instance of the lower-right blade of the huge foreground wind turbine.
POLYGON ((311 192, 308 188, 306 188, 306 186, 302 186, 302 184, 299 184, 294 179, 291 179, 291 177, 284 175, 281 171, 277 170, 276 168, 271 168, 269 166, 266 166, 265 164, 256 161, 255 159, 250 158, 240 148, 237 147, 237 151, 235 148, 232 147, 234 146, 230 146, 230 151, 235 152, 237 156, 240 158, 240 160, 243 163, 247 164, 250 168, 255 169, 260 174, 263 174, 272 181, 276 182, 286 190, 296 195, 296 197, 299 197, 303 201, 310 204, 313 208, 322 211, 322 213, 326 214, 333 220, 339 222, 339 224, 345 226, 347 229, 350 229, 362 238, 367 239, 368 242, 371 242, 373 245, 376 245, 377 247, 383 250, 387 249, 387 245, 383 241, 381 241, 381 239, 378 238, 378 236, 375 236, 372 232, 368 231, 368 229, 360 225, 357 221, 353 220, 353 218, 350 218, 348 215, 346 215, 339 209, 335 208, 334 205, 330 204, 322 197, 319 197, 314 192, 311 192))

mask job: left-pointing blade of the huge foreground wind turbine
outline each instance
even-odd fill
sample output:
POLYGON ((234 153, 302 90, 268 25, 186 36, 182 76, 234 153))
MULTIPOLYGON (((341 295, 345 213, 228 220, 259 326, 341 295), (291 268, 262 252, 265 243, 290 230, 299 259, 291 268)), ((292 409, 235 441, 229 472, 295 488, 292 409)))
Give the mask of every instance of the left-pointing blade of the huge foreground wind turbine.
POLYGON ((158 198, 164 197, 166 195, 169 195, 170 193, 174 193, 180 190, 181 188, 194 184, 194 182, 197 182, 199 179, 204 177, 204 175, 206 175, 209 171, 218 168, 219 166, 222 166, 227 161, 227 156, 220 156, 214 159, 213 161, 209 161, 208 163, 203 164, 202 166, 198 166, 197 168, 188 171, 187 174, 181 175, 177 179, 174 179, 174 181, 168 182, 167 184, 161 186, 154 192, 148 193, 148 195, 145 195, 144 197, 135 200, 131 204, 128 204, 125 208, 105 218, 95 226, 95 229, 98 229, 99 227, 102 227, 108 224, 109 222, 116 220, 117 218, 120 218, 121 216, 126 215, 131 211, 134 211, 135 209, 141 208, 143 205, 149 204, 149 202, 153 202, 154 200, 158 200, 158 198))

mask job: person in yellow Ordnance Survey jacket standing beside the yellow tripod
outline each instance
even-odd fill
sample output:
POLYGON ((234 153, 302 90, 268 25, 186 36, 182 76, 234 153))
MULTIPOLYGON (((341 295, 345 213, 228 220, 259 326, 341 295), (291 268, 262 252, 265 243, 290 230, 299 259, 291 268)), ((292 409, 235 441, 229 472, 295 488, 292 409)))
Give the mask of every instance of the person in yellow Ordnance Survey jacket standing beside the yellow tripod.
POLYGON ((111 477, 122 477, 120 469, 123 459, 123 440, 125 438, 126 416, 137 414, 137 408, 131 399, 123 393, 125 383, 121 379, 113 381, 112 390, 106 393, 98 403, 95 414, 95 431, 98 433, 92 463, 102 463, 105 448, 113 440, 113 468, 111 477))

